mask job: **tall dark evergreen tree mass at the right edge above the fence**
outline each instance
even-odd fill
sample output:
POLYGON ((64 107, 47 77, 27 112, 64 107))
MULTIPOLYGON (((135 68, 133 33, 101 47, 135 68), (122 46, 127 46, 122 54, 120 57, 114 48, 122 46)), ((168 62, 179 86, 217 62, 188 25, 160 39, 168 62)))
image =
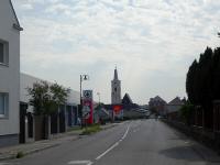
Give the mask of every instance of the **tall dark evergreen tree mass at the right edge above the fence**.
POLYGON ((207 47, 187 73, 186 91, 190 103, 201 107, 205 125, 213 125, 212 101, 220 99, 220 48, 207 47))

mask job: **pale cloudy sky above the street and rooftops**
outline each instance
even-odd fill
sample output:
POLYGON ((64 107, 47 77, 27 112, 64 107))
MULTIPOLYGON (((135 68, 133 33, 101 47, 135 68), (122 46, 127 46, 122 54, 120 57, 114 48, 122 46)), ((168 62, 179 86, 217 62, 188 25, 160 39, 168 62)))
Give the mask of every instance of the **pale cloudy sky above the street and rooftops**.
POLYGON ((188 67, 220 38, 217 0, 12 0, 21 26, 21 72, 79 90, 90 79, 111 101, 117 66, 122 96, 146 105, 185 97, 188 67))

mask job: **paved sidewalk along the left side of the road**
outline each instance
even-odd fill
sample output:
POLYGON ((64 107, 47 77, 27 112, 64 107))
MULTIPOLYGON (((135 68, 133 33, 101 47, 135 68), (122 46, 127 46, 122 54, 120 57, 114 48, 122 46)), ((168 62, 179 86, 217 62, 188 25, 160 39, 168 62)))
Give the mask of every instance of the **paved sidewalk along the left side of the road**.
MULTIPOLYGON (((117 123, 101 125, 102 130, 116 127, 117 123)), ((33 154, 46 148, 58 146, 65 142, 75 141, 81 138, 82 130, 74 130, 65 133, 53 135, 51 140, 42 140, 33 143, 18 144, 0 148, 0 161, 16 158, 18 153, 22 155, 33 154)))

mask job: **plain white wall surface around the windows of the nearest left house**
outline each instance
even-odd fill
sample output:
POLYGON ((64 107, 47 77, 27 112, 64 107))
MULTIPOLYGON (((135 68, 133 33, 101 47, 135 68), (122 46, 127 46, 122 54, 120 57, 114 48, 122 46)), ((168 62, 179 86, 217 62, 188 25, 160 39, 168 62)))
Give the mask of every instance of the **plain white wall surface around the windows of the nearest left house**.
POLYGON ((0 40, 9 42, 9 66, 0 65, 0 91, 9 92, 9 116, 0 118, 0 135, 19 133, 20 32, 9 0, 0 0, 0 40))

